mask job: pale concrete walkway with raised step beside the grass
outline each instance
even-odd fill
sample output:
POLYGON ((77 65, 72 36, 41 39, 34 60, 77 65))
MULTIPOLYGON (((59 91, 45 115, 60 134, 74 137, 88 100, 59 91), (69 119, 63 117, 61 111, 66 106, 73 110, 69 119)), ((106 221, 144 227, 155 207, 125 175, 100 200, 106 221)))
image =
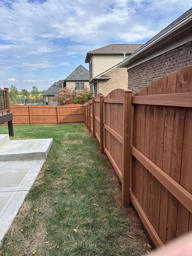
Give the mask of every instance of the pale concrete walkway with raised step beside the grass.
POLYGON ((34 184, 52 139, 9 140, 0 134, 0 245, 34 184))

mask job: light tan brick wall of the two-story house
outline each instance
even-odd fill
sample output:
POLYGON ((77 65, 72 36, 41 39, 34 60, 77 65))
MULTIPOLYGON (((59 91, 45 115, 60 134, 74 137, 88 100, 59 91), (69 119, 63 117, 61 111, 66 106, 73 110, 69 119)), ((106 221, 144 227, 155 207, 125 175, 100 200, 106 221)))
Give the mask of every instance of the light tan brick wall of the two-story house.
POLYGON ((107 76, 112 78, 110 80, 99 80, 99 93, 106 96, 115 89, 128 89, 127 68, 117 68, 108 73, 107 76))

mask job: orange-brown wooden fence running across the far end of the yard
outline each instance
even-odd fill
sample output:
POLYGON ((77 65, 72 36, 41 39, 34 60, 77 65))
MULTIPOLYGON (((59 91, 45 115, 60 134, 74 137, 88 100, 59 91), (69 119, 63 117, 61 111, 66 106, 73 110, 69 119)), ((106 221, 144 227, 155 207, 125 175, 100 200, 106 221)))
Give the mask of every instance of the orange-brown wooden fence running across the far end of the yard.
POLYGON ((22 106, 11 105, 13 124, 63 124, 83 123, 83 105, 70 104, 64 106, 36 105, 22 106))

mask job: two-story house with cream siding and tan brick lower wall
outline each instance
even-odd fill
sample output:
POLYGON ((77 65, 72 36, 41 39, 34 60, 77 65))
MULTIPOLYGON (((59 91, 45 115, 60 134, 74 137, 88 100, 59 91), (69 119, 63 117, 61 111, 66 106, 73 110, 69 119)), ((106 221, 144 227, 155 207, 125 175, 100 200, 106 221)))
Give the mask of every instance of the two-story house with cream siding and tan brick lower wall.
POLYGON ((89 63, 90 90, 96 96, 106 96, 114 89, 127 89, 128 75, 125 68, 117 64, 130 56, 142 44, 109 44, 87 52, 85 63, 89 63))

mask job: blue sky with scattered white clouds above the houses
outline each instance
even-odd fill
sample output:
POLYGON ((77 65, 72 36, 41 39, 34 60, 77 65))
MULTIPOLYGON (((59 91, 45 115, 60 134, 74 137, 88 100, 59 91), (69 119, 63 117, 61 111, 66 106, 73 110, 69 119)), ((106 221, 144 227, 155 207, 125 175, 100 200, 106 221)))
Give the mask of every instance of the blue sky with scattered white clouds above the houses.
POLYGON ((0 87, 48 89, 108 44, 144 44, 191 0, 0 0, 0 87))

